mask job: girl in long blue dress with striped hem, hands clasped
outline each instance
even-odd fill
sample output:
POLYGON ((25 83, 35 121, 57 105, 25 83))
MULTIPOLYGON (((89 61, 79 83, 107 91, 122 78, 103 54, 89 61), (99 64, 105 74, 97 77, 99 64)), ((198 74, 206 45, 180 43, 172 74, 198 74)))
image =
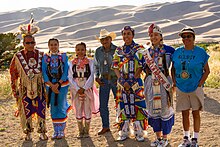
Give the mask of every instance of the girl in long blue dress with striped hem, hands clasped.
POLYGON ((48 41, 49 53, 46 53, 42 61, 43 79, 48 95, 48 107, 54 127, 52 139, 65 137, 67 113, 70 105, 67 103, 68 92, 68 57, 59 52, 59 41, 50 39, 48 41))

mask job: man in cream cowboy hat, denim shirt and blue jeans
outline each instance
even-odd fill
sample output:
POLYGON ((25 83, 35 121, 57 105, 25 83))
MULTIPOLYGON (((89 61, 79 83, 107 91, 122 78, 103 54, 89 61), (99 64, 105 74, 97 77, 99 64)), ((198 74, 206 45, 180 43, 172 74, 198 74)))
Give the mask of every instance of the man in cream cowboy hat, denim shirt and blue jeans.
POLYGON ((109 127, 109 110, 108 101, 110 90, 112 90, 114 97, 116 97, 117 76, 111 69, 113 54, 116 46, 112 41, 116 38, 114 32, 108 32, 106 29, 101 29, 100 36, 96 39, 101 42, 102 46, 96 49, 95 52, 95 80, 100 85, 99 100, 100 100, 100 114, 102 118, 102 129, 98 135, 110 131, 109 127))

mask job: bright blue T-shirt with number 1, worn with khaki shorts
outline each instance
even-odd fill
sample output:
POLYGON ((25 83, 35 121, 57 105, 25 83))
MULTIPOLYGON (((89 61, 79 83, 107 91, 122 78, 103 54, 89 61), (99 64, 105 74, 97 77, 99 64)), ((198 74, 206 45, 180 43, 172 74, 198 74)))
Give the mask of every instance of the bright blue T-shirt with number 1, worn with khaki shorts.
POLYGON ((186 50, 183 46, 176 49, 172 60, 175 68, 176 86, 182 92, 189 93, 196 90, 208 59, 209 55, 199 46, 195 46, 193 50, 186 50), (187 78, 181 76, 183 72, 188 73, 187 78))

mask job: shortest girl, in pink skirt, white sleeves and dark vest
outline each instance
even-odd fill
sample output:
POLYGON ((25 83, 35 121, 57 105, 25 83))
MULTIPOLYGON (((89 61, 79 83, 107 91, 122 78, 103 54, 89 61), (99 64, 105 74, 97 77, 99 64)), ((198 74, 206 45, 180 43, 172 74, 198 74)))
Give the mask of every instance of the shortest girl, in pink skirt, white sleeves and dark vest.
POLYGON ((79 128, 78 137, 81 138, 89 137, 91 115, 98 112, 99 103, 97 95, 94 97, 93 60, 86 57, 85 43, 81 42, 75 48, 76 58, 69 63, 68 78, 73 109, 79 128))

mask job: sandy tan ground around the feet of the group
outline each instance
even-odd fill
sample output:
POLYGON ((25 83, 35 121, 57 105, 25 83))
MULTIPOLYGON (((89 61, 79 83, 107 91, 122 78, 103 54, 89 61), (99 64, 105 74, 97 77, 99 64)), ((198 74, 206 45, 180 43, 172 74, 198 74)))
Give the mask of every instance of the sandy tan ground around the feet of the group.
MULTIPOLYGON (((205 88, 205 111, 202 112, 202 126, 199 139, 199 145, 207 146, 220 146, 220 89, 205 88)), ((174 103, 175 104, 175 103, 174 103)), ((109 102, 110 108, 110 121, 111 121, 111 132, 105 135, 97 135, 98 130, 101 128, 100 117, 93 118, 91 123, 90 138, 77 139, 77 124, 73 112, 70 112, 69 119, 67 122, 66 138, 61 140, 47 140, 40 141, 38 134, 33 133, 33 141, 25 141, 24 134, 21 131, 19 118, 14 117, 15 101, 12 99, 0 100, 0 144, 5 147, 30 147, 30 146, 41 146, 41 147, 67 147, 67 146, 83 146, 83 147, 122 147, 122 146, 138 146, 146 147, 150 146, 150 142, 154 141, 155 135, 153 134, 152 128, 149 127, 147 130, 148 135, 144 142, 137 142, 133 137, 123 142, 116 141, 117 129, 115 124, 115 110, 114 101, 111 98, 109 102)), ((53 133, 52 123, 47 110, 47 128, 48 135, 51 138, 53 133)), ((192 119, 191 119, 192 120, 192 119)), ((191 130, 192 132, 192 130, 191 130)), ((181 114, 176 113, 175 125, 169 136, 170 145, 177 147, 182 140, 182 124, 181 114)))

